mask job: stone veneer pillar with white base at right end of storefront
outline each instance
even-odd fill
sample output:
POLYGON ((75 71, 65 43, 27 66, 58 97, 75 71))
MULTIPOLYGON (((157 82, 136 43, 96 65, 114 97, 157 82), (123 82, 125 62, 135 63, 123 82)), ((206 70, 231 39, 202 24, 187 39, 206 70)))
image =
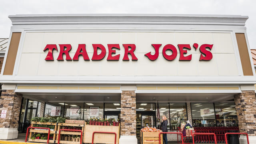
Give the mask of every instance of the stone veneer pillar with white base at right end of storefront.
MULTIPOLYGON (((240 132, 246 132, 250 144, 256 144, 256 97, 254 90, 234 95, 240 132)), ((246 136, 240 136, 240 144, 247 144, 246 136)))

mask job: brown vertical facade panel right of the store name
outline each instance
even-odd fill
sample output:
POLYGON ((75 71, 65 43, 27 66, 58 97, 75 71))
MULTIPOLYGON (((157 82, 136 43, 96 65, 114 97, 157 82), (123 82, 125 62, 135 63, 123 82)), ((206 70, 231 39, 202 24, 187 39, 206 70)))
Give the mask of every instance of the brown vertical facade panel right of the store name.
POLYGON ((249 52, 244 33, 236 33, 236 41, 242 63, 244 76, 253 76, 249 52))

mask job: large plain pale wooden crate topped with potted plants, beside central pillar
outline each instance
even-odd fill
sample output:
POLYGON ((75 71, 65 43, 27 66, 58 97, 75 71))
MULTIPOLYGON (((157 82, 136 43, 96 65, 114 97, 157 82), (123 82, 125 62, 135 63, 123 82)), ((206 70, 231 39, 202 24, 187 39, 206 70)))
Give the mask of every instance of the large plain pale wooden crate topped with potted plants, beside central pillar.
MULTIPOLYGON (((116 144, 119 143, 119 126, 95 126, 88 125, 84 126, 84 143, 92 143, 92 133, 93 132, 116 132, 116 144)), ((99 144, 114 144, 115 135, 114 134, 94 134, 94 143, 99 144)))

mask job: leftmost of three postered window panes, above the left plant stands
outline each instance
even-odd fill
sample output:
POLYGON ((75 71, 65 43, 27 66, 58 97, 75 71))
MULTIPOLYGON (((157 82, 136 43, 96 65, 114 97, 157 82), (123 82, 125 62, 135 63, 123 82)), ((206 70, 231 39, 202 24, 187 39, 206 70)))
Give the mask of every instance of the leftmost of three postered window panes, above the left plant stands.
POLYGON ((63 112, 64 112, 64 102, 52 102, 52 103, 47 103, 45 104, 45 108, 44 108, 44 117, 47 116, 63 116, 63 112), (51 114, 52 109, 58 110, 60 108, 60 113, 51 114))

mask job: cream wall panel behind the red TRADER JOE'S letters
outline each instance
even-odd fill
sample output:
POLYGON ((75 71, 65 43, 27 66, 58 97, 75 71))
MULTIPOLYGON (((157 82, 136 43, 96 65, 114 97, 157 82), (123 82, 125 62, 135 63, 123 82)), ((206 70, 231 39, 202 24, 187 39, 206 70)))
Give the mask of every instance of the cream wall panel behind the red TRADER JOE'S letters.
MULTIPOLYGON (((170 52, 168 52, 170 54, 170 52)), ((64 55, 64 59, 65 59, 64 55)), ((131 57, 129 56, 131 59, 131 57)), ((215 32, 26 32, 20 65, 19 76, 239 76, 236 54, 230 33, 215 32), (99 39, 100 38, 100 39, 99 39), (194 43, 213 44, 213 58, 210 61, 199 61, 199 48, 194 43), (102 60, 57 61, 58 52, 54 50, 54 61, 46 61, 48 50, 46 44, 71 44, 70 57, 73 58, 78 44, 86 44, 89 58, 92 58, 92 44, 102 44, 106 48, 106 56, 102 60), (118 61, 107 61, 107 44, 119 44, 118 61), (122 44, 135 44, 135 55, 138 61, 123 61, 122 44), (154 53, 151 44, 162 44, 157 60, 149 60, 145 54, 154 53), (173 44, 177 57, 168 61, 162 56, 166 44, 173 44), (188 56, 192 60, 179 61, 178 44, 190 44, 188 56), (33 60, 31 60, 33 59, 33 60)))

